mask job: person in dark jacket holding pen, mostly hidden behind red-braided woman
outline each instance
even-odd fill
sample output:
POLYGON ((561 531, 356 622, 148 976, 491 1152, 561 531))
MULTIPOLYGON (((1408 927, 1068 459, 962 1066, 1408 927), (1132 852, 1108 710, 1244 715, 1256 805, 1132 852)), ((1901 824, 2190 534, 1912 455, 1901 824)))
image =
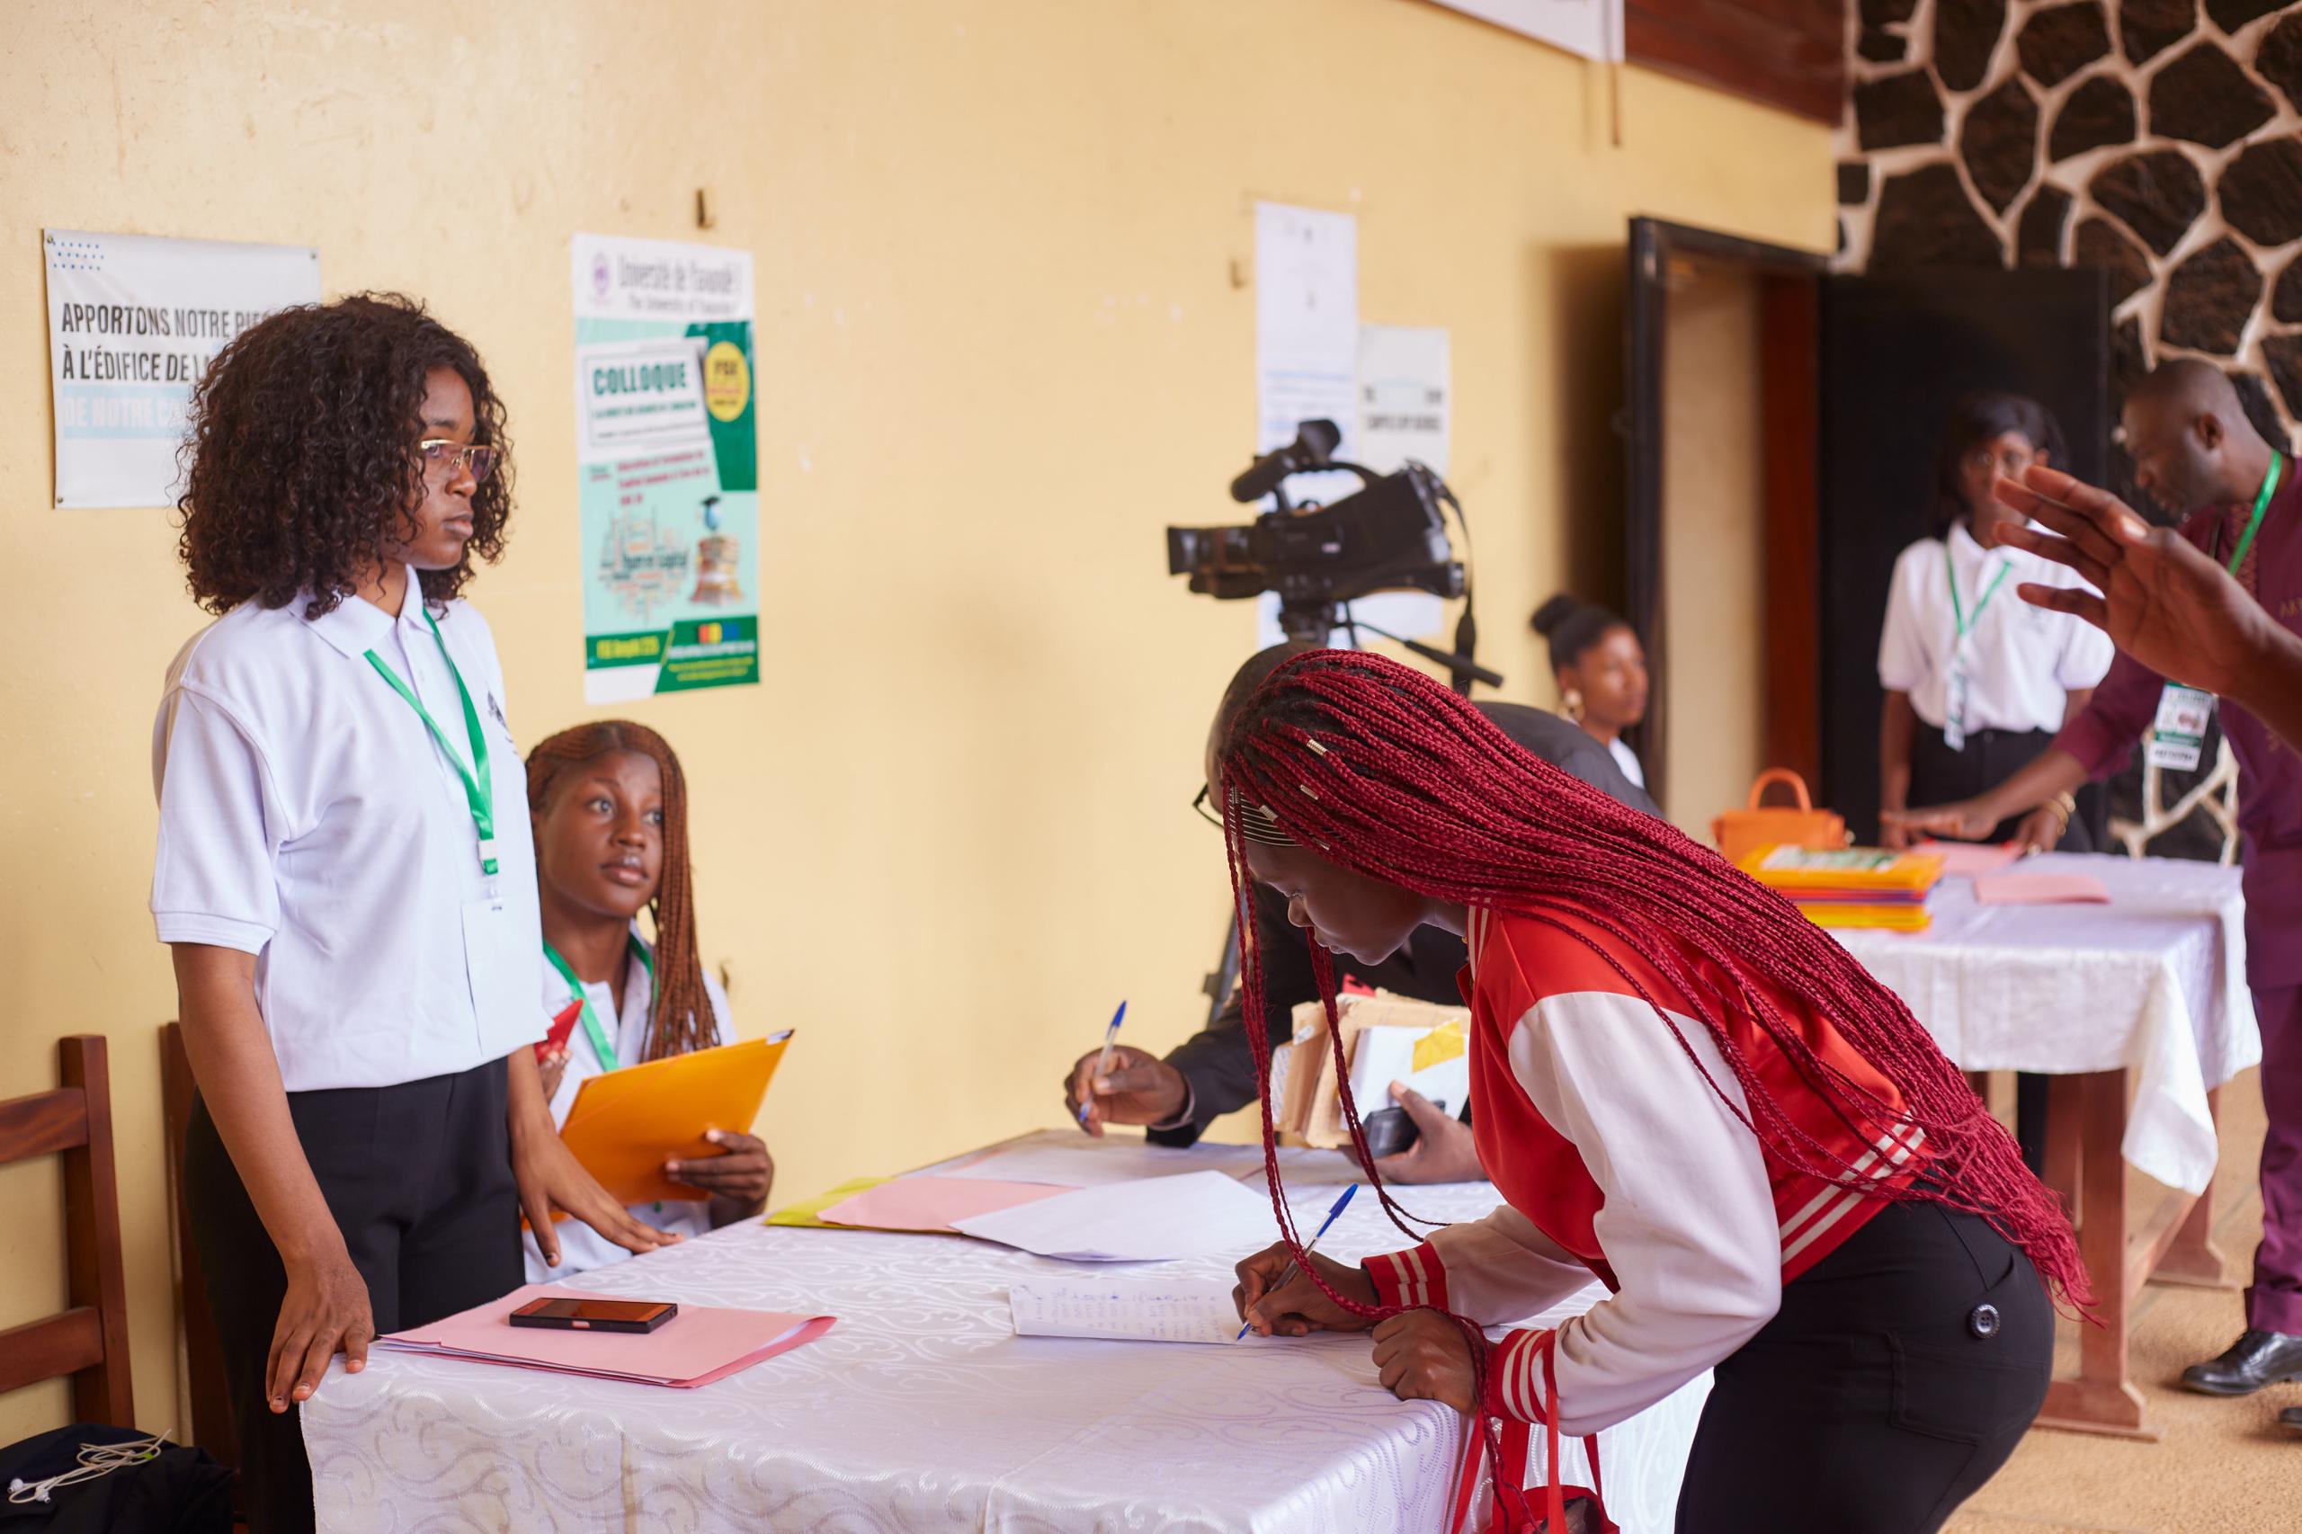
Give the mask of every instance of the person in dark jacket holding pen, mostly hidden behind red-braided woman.
MULTIPOLYGON (((1289 654, 1305 650, 1303 645, 1273 645, 1248 659, 1232 686, 1252 686, 1289 654)), ((1545 762, 1637 811, 1657 813, 1655 802, 1623 776, 1607 749, 1572 723, 1517 703, 1480 703, 1476 707, 1545 762)), ((1312 974, 1310 956, 1287 926, 1287 901, 1261 887, 1255 891, 1255 942, 1264 956, 1264 1018, 1271 1027, 1271 1041, 1287 1043, 1294 1036, 1294 1009, 1301 1002, 1319 1000, 1319 981, 1312 974)), ((1397 954, 1381 963, 1342 958, 1344 977, 1370 990, 1390 990, 1443 1007, 1462 1004, 1462 993, 1455 986, 1462 963, 1462 940, 1434 926, 1416 931, 1397 954)), ((1121 1043, 1112 1048, 1112 1069, 1093 1078, 1103 1050, 1080 1055, 1064 1078, 1066 1108, 1077 1115, 1080 1103, 1089 1103, 1087 1131, 1093 1136, 1100 1136, 1105 1124, 1144 1124, 1144 1138, 1153 1145, 1195 1145, 1218 1117, 1255 1101, 1255 1053, 1248 1046, 1243 1018, 1243 988, 1234 984, 1215 1020, 1172 1048, 1165 1060, 1121 1043)), ((1464 1117, 1450 1117, 1409 1087, 1395 1087, 1393 1101, 1413 1117, 1418 1138, 1404 1152, 1381 1159, 1379 1170, 1386 1179, 1478 1182, 1485 1177, 1466 1124, 1469 1103, 1462 1110, 1464 1117)))

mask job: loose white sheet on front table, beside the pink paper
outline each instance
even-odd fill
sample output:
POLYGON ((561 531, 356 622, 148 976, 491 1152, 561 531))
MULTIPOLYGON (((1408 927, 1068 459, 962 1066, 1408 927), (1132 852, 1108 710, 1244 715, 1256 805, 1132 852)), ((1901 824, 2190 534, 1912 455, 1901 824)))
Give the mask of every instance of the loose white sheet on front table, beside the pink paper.
POLYGON ((951 1225, 1068 1262, 1163 1262, 1213 1253, 1243 1258, 1278 1237, 1271 1200, 1222 1172, 1077 1189, 951 1225))

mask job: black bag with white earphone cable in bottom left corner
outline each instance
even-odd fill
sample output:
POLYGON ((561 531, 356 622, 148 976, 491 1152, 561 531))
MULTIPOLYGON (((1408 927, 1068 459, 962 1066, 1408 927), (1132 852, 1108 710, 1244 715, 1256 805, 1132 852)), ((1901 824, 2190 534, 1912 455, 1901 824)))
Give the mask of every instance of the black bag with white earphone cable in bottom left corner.
POLYGON ((0 1449, 9 1490, 0 1534, 233 1534, 233 1472, 182 1444, 161 1442, 157 1453, 37 1497, 44 1481, 81 1470, 87 1449, 150 1442, 134 1428, 83 1421, 0 1449))

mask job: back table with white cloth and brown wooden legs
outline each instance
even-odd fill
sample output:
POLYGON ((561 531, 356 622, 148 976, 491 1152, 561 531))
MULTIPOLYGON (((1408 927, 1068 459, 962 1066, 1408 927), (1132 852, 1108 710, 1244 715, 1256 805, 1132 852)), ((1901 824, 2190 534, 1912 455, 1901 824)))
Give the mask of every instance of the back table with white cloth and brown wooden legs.
POLYGON ((2215 1092, 2261 1062, 2238 868, 2065 855, 2017 873, 2086 873, 2109 905, 1982 905, 1952 878, 1924 933, 1839 931, 1966 1071, 2053 1076, 2046 1182, 2076 1195, 2102 1327, 2042 1426, 2152 1435, 2127 1382, 2127 1306, 2148 1278, 2221 1283, 2205 1198, 2215 1092), (2132 1103, 2129 1103, 2132 1099, 2132 1103), (2125 1165, 2178 1193, 2127 1232, 2125 1165))

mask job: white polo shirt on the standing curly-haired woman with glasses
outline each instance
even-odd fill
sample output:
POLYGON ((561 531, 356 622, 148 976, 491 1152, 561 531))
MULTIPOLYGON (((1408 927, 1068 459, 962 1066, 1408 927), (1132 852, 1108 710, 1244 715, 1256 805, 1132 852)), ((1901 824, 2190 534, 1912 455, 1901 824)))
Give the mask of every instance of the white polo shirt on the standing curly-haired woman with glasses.
POLYGON ((495 638, 463 601, 440 615, 488 737, 486 878, 463 779, 366 659, 382 656, 470 762, 414 571, 396 620, 359 597, 306 620, 306 601, 242 603, 168 668, 152 728, 159 940, 256 954, 290 1092, 394 1087, 509 1055, 543 1036, 543 931, 495 638))

